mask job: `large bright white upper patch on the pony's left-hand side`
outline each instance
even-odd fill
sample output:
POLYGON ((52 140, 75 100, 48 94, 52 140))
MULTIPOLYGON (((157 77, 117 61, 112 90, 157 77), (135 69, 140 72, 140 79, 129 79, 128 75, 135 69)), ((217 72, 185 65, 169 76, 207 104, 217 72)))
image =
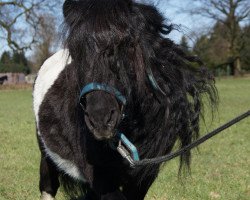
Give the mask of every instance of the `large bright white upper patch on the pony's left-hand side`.
MULTIPOLYGON (((36 117, 37 127, 39 123, 39 108, 43 99, 58 78, 59 74, 63 71, 66 65, 71 63, 69 52, 67 49, 62 49, 48 58, 40 68, 33 91, 33 109, 36 117)), ((38 135, 39 135, 38 131, 38 135)))

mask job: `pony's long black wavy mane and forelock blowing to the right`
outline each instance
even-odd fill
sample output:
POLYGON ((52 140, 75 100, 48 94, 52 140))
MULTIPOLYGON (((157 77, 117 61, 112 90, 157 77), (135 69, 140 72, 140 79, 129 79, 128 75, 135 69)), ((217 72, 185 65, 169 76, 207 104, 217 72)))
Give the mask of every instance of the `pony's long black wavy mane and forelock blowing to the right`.
MULTIPOLYGON (((203 97, 216 103, 214 79, 197 58, 167 38, 172 26, 153 6, 131 0, 66 0, 64 16, 79 88, 96 81, 124 93, 128 116, 119 128, 142 158, 166 154, 177 139, 183 147, 198 137, 203 97), (152 87, 146 67, 165 96, 152 87)), ((189 165, 190 152, 181 161, 189 165)))

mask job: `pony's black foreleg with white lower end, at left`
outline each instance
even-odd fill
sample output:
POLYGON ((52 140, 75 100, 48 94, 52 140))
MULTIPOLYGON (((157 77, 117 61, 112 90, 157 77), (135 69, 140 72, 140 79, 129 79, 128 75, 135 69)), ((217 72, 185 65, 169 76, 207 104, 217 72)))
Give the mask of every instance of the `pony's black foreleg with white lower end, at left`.
POLYGON ((58 171, 52 161, 43 153, 40 163, 41 200, 53 200, 59 188, 58 171))

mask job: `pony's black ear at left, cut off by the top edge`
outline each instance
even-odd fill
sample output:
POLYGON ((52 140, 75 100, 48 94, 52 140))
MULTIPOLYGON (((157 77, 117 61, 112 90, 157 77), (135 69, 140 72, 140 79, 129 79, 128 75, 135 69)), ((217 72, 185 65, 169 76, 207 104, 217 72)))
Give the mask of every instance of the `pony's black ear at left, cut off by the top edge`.
POLYGON ((81 16, 81 0, 66 0, 63 4, 65 22, 71 26, 81 16))

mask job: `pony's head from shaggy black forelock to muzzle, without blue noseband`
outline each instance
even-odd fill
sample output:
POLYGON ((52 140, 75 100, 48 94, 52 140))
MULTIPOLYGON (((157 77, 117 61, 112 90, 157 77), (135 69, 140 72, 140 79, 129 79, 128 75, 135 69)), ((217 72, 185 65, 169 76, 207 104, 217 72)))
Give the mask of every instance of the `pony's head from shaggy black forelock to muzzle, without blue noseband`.
MULTIPOLYGON (((132 1, 68 0, 63 11, 67 48, 78 66, 81 87, 98 83, 129 99, 136 79, 138 86, 145 84, 132 1)), ((81 97, 86 125, 97 139, 114 136, 124 114, 125 105, 114 93, 93 88, 81 97)))

